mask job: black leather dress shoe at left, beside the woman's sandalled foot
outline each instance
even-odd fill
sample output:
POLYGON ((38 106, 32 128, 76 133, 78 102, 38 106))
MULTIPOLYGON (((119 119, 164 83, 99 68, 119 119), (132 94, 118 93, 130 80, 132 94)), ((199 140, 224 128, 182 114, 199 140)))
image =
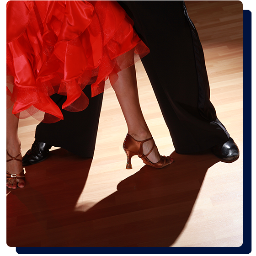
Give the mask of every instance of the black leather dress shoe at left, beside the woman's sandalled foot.
POLYGON ((51 147, 49 144, 35 140, 31 149, 22 157, 23 166, 34 165, 47 159, 51 147))

